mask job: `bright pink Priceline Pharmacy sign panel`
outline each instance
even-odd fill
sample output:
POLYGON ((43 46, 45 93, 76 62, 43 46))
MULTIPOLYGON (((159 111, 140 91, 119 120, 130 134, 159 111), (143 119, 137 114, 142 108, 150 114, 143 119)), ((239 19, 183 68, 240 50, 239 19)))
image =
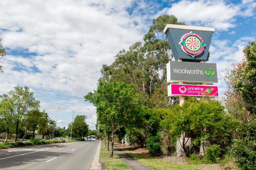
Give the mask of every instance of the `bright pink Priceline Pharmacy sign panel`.
POLYGON ((170 84, 168 88, 170 95, 219 97, 218 86, 170 84))

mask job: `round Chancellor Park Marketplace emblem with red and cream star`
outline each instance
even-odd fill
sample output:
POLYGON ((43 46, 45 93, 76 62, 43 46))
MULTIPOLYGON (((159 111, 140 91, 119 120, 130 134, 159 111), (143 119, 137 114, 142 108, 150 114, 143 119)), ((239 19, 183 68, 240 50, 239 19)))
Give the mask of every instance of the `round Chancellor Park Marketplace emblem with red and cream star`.
POLYGON ((201 54, 205 46, 202 37, 192 32, 183 35, 179 44, 182 50, 192 57, 201 54))

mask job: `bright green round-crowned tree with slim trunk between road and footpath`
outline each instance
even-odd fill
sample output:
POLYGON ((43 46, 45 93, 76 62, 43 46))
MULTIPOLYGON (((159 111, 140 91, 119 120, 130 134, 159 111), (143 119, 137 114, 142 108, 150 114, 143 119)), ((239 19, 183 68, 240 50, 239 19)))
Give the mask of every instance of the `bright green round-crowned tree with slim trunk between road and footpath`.
POLYGON ((89 92, 84 98, 97 107, 98 123, 111 129, 111 151, 113 158, 114 135, 116 131, 131 120, 140 108, 140 101, 135 85, 124 82, 100 81, 94 93, 89 92))

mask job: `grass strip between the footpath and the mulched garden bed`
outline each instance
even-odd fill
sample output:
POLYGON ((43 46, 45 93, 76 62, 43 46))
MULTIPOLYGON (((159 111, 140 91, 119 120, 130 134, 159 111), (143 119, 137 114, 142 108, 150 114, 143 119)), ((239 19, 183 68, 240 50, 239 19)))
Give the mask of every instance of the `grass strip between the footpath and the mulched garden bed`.
MULTIPOLYGON (((126 151, 137 159, 138 161, 144 163, 148 167, 154 169, 154 170, 207 170, 205 168, 202 168, 200 165, 183 165, 178 164, 174 162, 167 162, 162 160, 161 158, 157 158, 154 156, 148 156, 145 154, 138 154, 138 153, 131 153, 131 151, 126 151)), ((208 170, 219 170, 219 169, 213 169, 209 168, 208 170)))

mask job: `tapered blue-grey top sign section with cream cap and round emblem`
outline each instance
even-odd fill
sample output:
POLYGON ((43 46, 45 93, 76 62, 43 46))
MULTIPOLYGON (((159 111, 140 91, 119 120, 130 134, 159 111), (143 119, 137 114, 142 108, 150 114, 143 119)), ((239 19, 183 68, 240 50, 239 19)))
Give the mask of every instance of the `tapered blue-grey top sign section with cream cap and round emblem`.
POLYGON ((167 24, 164 33, 176 61, 207 60, 214 28, 167 24))

